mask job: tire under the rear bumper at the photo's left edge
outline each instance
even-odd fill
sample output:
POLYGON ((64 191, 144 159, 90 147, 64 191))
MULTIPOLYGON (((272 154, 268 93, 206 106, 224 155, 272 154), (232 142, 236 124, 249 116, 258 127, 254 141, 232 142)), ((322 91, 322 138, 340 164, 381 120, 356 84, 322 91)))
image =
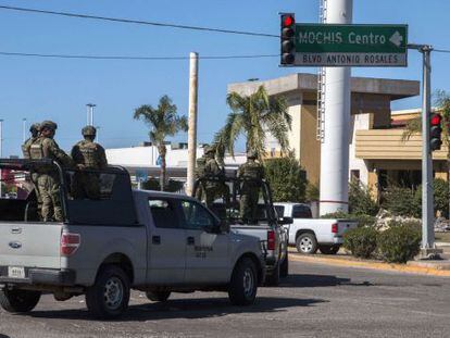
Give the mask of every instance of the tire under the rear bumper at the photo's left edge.
POLYGON ((3 289, 0 291, 0 305, 8 312, 29 312, 36 308, 40 295, 39 291, 3 289))

